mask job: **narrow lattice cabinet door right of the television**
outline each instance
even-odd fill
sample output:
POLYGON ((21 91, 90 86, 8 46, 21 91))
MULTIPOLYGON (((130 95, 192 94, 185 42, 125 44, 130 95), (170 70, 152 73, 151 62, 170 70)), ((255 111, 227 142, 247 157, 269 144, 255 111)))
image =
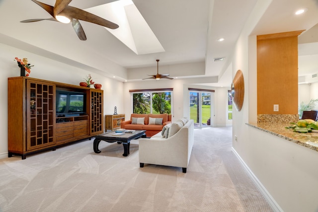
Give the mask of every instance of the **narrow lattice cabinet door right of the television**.
POLYGON ((90 135, 103 133, 103 91, 90 91, 90 135))

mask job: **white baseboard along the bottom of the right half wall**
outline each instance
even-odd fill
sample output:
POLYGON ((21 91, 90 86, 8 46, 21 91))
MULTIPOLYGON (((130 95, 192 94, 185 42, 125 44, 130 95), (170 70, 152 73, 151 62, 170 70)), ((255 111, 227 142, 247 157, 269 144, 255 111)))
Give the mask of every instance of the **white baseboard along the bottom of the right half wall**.
POLYGON ((265 200, 269 204, 269 206, 272 208, 274 212, 284 212, 283 209, 279 207, 277 202, 274 200, 274 198, 269 194, 269 192, 266 190, 266 188, 263 186, 263 184, 257 179, 257 177, 254 175, 254 173, 249 169, 247 164, 244 162, 244 160, 239 156, 238 152, 233 148, 232 150, 235 153, 235 155, 238 157, 239 162, 243 165, 245 170, 247 171, 248 175, 252 178, 253 182, 255 183, 256 187, 260 191, 260 193, 264 196, 265 200))

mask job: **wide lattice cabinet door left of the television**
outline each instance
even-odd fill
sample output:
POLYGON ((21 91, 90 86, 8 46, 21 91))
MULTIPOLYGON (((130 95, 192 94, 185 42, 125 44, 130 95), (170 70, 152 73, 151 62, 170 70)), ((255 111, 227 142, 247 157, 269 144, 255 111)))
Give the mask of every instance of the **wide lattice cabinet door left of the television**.
POLYGON ((55 84, 27 80, 26 150, 55 144, 55 84))

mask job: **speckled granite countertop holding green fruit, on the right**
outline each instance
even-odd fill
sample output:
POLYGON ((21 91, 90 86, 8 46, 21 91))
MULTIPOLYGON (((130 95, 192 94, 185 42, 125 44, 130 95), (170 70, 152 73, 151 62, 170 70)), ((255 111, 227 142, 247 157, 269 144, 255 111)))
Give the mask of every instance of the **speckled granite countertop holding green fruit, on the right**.
POLYGON ((289 124, 285 123, 246 123, 246 125, 258 130, 270 133, 287 141, 318 151, 318 133, 298 133, 292 129, 286 129, 289 124))

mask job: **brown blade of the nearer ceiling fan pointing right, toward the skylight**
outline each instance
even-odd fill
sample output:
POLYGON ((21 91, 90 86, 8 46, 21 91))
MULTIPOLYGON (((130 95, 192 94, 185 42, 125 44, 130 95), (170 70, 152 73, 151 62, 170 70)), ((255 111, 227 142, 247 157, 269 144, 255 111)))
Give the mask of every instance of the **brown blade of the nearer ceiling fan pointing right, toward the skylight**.
POLYGON ((69 18, 76 18, 79 20, 95 23, 110 29, 117 29, 119 26, 111 21, 108 21, 104 18, 101 18, 97 15, 94 15, 90 12, 86 12, 85 10, 73 7, 73 6, 66 6, 61 15, 65 15, 69 18))

